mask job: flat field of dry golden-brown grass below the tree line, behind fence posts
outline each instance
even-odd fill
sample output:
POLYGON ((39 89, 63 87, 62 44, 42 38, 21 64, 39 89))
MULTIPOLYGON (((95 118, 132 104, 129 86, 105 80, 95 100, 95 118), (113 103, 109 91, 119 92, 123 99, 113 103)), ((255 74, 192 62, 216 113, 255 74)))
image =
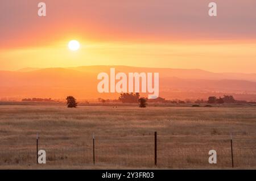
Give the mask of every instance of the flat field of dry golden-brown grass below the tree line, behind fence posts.
POLYGON ((234 167, 256 169, 256 107, 56 105, 0 106, 0 169, 155 169, 155 131, 157 168, 230 169, 232 132, 234 167), (37 132, 46 165, 36 165, 37 132))

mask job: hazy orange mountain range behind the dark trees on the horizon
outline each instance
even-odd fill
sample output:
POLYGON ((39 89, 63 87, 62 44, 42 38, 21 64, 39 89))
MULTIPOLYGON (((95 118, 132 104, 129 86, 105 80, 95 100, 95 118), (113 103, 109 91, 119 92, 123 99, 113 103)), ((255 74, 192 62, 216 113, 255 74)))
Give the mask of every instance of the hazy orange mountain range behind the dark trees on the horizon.
POLYGON ((110 74, 110 68, 115 68, 116 73, 159 73, 159 96, 166 99, 207 99, 229 94, 237 100, 256 100, 256 74, 103 65, 0 71, 0 99, 65 99, 67 95, 77 99, 117 99, 117 93, 97 91, 98 73, 110 74))

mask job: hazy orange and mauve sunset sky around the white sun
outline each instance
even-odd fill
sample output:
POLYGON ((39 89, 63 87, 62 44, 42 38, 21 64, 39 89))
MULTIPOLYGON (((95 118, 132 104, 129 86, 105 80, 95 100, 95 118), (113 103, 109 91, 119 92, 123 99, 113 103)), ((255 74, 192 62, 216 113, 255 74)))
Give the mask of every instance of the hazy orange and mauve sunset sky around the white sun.
POLYGON ((256 73, 255 0, 0 1, 0 70, 131 65, 256 73), (39 17, 45 2, 47 16, 39 17), (217 3, 217 17, 208 15, 217 3), (80 41, 77 52, 69 40, 80 41))

